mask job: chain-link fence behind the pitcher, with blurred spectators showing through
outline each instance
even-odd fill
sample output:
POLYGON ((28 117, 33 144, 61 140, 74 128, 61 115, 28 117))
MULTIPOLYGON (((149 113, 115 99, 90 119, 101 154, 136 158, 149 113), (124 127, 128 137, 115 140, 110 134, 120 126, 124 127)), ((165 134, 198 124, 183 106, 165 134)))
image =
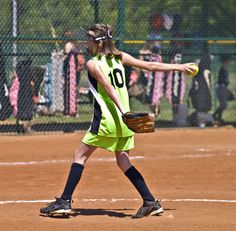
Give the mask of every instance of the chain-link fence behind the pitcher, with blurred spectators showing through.
POLYGON ((234 0, 1 0, 0 14, 0 132, 89 127, 81 27, 95 22, 135 57, 199 64, 194 78, 127 67, 133 111, 160 108, 162 127, 236 123, 234 0))

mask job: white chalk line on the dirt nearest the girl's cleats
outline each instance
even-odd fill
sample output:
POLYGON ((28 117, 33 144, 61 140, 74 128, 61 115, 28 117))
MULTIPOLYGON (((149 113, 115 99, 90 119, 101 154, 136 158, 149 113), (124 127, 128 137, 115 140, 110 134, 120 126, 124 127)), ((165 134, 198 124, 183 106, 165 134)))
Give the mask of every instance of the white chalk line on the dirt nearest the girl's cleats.
MULTIPOLYGON (((24 204, 24 203, 50 203, 53 200, 9 200, 9 201, 0 201, 0 205, 5 204, 24 204)), ((83 201, 83 202, 109 202, 115 203, 119 201, 141 201, 141 199, 123 199, 123 198, 112 198, 112 199, 80 199, 74 201, 83 201)), ((161 199, 161 201, 165 202, 214 202, 214 203, 236 203, 236 200, 217 200, 217 199, 161 199)))

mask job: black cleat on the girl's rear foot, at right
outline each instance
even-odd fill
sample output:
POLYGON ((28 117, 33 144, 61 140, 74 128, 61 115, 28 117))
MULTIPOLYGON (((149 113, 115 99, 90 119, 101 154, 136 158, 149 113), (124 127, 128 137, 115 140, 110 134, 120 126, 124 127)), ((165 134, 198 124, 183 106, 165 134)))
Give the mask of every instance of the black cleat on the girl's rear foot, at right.
POLYGON ((160 215, 163 213, 163 208, 161 207, 158 200, 156 201, 145 201, 143 205, 139 208, 138 212, 132 215, 132 218, 142 218, 147 216, 160 215))

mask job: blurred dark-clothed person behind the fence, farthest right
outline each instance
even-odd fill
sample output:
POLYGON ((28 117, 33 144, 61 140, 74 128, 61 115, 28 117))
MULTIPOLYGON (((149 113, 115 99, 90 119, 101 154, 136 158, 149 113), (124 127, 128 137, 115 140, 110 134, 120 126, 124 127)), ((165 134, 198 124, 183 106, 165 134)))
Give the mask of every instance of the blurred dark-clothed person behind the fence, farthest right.
POLYGON ((220 57, 221 67, 218 74, 217 89, 216 94, 219 100, 219 107, 216 109, 213 114, 215 121, 222 123, 223 112, 227 109, 228 101, 235 100, 235 96, 232 91, 229 89, 229 64, 231 61, 231 56, 224 54, 220 57))

